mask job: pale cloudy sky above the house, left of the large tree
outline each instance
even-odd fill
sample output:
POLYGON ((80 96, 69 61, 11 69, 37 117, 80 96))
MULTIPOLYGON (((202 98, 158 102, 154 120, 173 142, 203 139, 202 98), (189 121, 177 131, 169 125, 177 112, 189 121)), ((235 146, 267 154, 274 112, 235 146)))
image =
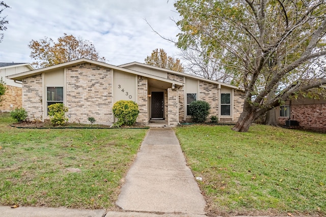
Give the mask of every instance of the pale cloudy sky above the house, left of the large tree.
POLYGON ((64 35, 94 43, 109 64, 144 63, 155 48, 178 53, 173 43, 153 33, 146 19, 161 35, 176 39, 179 30, 170 19, 179 19, 174 0, 2 0, 11 8, 8 29, 0 43, 0 62, 32 63, 31 40, 45 36, 57 41, 64 35))

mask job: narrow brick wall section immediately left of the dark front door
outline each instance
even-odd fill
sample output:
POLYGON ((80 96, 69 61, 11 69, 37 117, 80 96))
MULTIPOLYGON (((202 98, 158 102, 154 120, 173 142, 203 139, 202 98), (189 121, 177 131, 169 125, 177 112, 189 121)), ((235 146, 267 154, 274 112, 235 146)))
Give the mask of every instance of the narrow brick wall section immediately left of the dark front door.
POLYGON ((148 123, 148 81, 147 78, 138 76, 138 108, 139 115, 137 121, 141 124, 148 123))

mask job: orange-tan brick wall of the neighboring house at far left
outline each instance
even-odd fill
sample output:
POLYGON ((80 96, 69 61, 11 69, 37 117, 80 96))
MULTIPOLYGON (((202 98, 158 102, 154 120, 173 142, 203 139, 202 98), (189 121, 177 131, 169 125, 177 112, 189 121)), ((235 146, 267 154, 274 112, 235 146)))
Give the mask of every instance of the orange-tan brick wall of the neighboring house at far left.
POLYGON ((0 111, 11 111, 15 108, 22 107, 22 88, 9 85, 5 86, 7 90, 3 96, 4 101, 0 102, 0 111))

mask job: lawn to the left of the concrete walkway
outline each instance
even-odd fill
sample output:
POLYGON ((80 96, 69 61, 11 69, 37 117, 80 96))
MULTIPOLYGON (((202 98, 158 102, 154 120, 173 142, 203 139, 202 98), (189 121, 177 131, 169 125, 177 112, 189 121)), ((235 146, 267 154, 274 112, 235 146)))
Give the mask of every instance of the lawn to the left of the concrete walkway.
POLYGON ((0 113, 0 204, 115 207, 146 129, 16 129, 0 113), (69 169, 79 169, 73 172, 69 169))

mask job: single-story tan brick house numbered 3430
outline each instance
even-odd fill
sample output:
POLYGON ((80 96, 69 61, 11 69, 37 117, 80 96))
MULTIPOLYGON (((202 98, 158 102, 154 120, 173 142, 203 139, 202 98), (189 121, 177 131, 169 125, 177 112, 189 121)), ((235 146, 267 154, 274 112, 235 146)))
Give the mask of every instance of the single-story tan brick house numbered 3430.
POLYGON ((44 121, 48 105, 64 103, 69 122, 94 117, 111 125, 114 103, 132 100, 139 105, 138 123, 165 119, 176 126, 190 120, 189 103, 203 100, 211 106, 209 117, 235 122, 244 101, 244 92, 235 86, 135 62, 113 66, 82 58, 8 78, 22 81, 22 106, 30 120, 44 121))

